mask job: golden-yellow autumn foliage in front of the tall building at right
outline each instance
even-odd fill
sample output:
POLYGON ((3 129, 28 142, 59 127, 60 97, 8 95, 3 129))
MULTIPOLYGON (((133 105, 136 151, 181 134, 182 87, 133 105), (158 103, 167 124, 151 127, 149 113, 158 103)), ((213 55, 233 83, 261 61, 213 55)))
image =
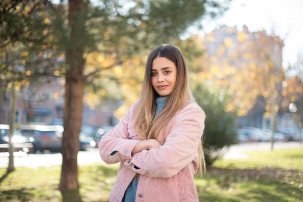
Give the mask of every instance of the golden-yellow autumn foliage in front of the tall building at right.
POLYGON ((227 111, 238 106, 238 116, 253 114, 260 96, 266 101, 262 106, 265 117, 270 117, 272 107, 279 110, 278 103, 271 104, 269 99, 272 94, 281 93, 284 80, 284 44, 278 36, 265 31, 249 32, 245 26, 243 31, 222 26, 196 40, 207 52, 196 61, 202 71, 195 77, 208 81, 212 89, 220 86, 233 96, 227 111))

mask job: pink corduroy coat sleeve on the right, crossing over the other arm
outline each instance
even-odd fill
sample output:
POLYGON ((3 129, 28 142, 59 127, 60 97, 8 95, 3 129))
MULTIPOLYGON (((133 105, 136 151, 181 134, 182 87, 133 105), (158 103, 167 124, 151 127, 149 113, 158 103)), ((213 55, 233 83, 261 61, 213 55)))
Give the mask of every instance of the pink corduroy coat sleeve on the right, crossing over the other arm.
POLYGON ((156 149, 136 153, 124 165, 149 177, 176 175, 198 155, 197 149, 205 128, 205 113, 190 108, 175 117, 175 124, 165 143, 156 149))

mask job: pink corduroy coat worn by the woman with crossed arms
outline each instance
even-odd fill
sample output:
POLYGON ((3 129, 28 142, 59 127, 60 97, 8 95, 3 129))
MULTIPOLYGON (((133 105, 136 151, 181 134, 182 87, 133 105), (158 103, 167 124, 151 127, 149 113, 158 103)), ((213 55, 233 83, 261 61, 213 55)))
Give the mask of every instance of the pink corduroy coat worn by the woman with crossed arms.
POLYGON ((121 162, 110 201, 122 201, 124 192, 136 173, 141 174, 136 202, 198 201, 193 175, 198 168, 197 148, 205 128, 205 113, 196 104, 188 104, 174 116, 165 131, 158 135, 162 146, 142 150, 131 156, 136 143, 142 140, 134 129, 138 103, 139 100, 99 143, 99 153, 105 163, 121 162), (111 156, 113 151, 118 153, 111 156))

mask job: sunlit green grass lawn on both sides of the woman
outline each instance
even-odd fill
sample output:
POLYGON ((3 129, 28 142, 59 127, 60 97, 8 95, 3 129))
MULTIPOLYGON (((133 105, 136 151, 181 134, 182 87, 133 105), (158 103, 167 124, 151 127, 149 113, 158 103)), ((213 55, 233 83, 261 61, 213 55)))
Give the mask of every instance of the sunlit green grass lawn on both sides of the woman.
MULTIPOLYGON (((199 201, 303 201, 303 149, 246 153, 247 160, 220 160, 196 178, 199 201)), ((108 201, 118 166, 79 167, 82 201, 108 201)), ((73 202, 58 190, 61 167, 0 169, 0 201, 73 202), (64 199, 63 199, 64 198, 64 199)))

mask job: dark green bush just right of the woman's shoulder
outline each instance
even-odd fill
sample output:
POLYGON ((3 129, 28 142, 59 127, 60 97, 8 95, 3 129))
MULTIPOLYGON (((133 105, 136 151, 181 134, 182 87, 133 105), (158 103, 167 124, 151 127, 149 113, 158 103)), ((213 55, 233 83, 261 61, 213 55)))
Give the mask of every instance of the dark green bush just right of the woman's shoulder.
POLYGON ((223 91, 210 92, 206 85, 199 84, 194 90, 197 104, 206 114, 203 147, 207 166, 211 166, 224 154, 223 147, 237 143, 236 110, 226 112, 229 95, 223 91))

